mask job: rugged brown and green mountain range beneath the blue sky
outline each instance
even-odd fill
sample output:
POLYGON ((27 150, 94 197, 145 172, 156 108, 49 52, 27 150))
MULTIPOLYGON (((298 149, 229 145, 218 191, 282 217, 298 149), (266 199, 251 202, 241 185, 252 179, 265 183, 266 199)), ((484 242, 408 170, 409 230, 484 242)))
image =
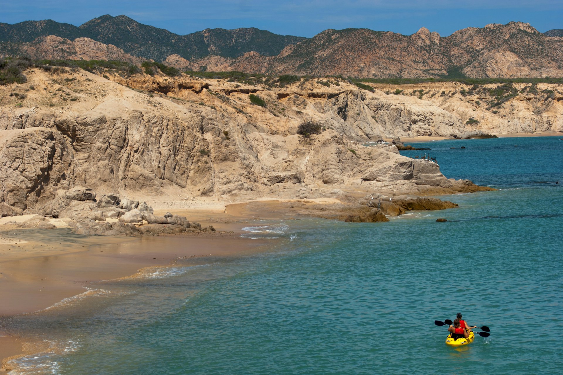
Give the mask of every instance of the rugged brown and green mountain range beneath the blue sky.
POLYGON ((540 33, 509 22, 448 37, 369 29, 325 30, 312 38, 255 28, 178 35, 127 16, 81 26, 53 20, 0 23, 0 56, 163 61, 184 70, 361 78, 563 76, 563 30, 540 33))

